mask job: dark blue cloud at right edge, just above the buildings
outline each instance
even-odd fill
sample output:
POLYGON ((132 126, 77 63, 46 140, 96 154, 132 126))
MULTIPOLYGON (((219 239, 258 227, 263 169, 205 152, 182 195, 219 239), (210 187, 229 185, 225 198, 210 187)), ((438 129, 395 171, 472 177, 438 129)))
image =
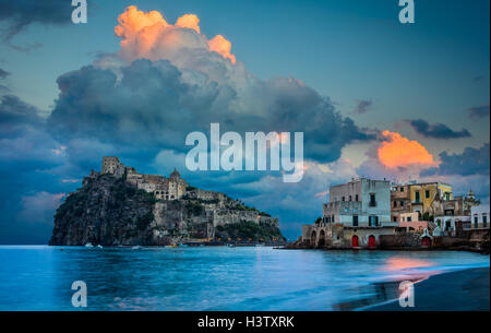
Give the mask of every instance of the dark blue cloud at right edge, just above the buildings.
POLYGON ((421 176, 471 176, 489 175, 489 143, 480 148, 466 147, 462 154, 440 154, 441 164, 439 167, 426 169, 421 176))

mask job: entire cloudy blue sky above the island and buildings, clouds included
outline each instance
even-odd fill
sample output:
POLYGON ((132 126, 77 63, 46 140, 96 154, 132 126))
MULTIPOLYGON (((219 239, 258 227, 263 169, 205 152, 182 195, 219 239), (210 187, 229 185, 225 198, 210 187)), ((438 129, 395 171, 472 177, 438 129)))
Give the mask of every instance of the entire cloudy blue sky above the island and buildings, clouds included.
POLYGON ((489 202, 489 1, 0 0, 0 243, 46 243, 104 155, 177 167, 295 239, 330 185, 439 180, 489 202), (152 12, 155 11, 155 12, 152 12), (119 17, 119 21, 118 21, 119 17), (184 138, 302 131, 302 181, 189 171, 184 138))

